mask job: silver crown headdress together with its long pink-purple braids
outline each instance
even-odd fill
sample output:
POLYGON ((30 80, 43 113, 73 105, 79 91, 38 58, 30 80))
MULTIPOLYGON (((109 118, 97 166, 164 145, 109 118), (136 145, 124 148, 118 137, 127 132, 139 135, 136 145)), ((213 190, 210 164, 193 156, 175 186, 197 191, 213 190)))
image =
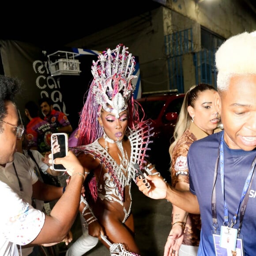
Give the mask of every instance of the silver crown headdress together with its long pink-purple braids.
POLYGON ((92 143, 103 135, 98 122, 101 108, 114 113, 116 118, 128 109, 131 129, 139 122, 139 106, 134 108, 133 100, 135 85, 132 85, 132 79, 137 77, 132 75, 135 64, 134 56, 122 44, 100 53, 98 60, 93 61, 91 72, 94 79, 80 113, 78 146, 92 143))

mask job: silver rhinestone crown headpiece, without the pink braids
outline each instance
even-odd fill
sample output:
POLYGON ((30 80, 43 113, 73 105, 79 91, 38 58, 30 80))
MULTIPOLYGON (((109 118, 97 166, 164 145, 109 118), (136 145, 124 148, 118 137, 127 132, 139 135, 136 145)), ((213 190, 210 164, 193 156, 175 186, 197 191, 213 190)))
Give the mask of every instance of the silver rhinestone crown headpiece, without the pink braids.
POLYGON ((107 112, 114 113, 116 118, 127 109, 127 102, 135 90, 132 85, 132 75, 136 64, 128 47, 122 44, 116 49, 100 53, 98 60, 93 61, 92 75, 94 76, 92 93, 95 101, 107 112), (120 53, 121 50, 121 53, 120 53))

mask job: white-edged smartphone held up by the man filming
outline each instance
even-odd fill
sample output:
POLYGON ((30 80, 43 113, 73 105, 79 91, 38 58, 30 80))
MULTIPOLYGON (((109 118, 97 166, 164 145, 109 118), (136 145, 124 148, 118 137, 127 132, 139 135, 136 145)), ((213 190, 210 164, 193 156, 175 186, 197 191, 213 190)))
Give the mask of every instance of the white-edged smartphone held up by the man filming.
MULTIPOLYGON (((55 158, 65 157, 68 154, 68 135, 67 133, 53 133, 51 135, 51 146, 53 154, 53 162, 55 158)), ((65 171, 66 168, 63 165, 53 164, 55 171, 65 171)))

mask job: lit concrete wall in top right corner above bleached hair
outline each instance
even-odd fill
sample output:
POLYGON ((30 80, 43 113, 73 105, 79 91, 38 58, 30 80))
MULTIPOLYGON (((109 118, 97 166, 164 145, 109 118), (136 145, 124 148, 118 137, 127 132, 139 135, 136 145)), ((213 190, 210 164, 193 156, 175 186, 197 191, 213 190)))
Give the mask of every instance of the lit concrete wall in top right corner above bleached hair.
POLYGON ((167 0, 166 6, 224 38, 256 30, 256 14, 241 0, 167 0))

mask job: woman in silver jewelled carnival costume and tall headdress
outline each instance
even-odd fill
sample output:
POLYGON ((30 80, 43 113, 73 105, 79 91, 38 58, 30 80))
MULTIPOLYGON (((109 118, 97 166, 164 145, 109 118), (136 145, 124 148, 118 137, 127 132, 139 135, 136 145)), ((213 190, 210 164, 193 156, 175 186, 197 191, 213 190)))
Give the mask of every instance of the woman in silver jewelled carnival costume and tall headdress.
POLYGON ((138 170, 157 171, 145 158, 153 133, 150 122, 139 120, 140 105, 133 99, 132 85, 136 63, 127 49, 117 45, 93 61, 94 79, 81 111, 74 151, 87 174, 87 194, 81 197, 79 210, 89 234, 101 239, 110 252, 112 244, 139 254, 134 240, 131 182, 136 182, 138 170))

